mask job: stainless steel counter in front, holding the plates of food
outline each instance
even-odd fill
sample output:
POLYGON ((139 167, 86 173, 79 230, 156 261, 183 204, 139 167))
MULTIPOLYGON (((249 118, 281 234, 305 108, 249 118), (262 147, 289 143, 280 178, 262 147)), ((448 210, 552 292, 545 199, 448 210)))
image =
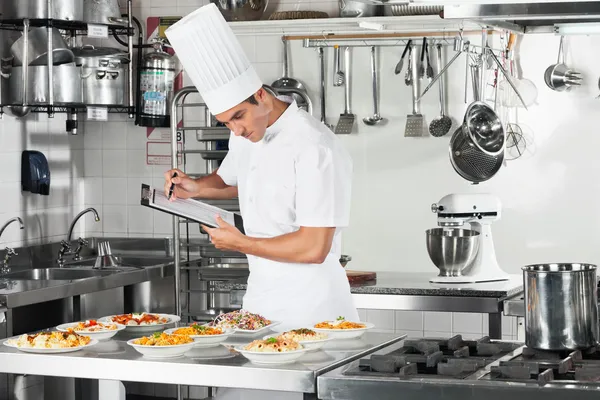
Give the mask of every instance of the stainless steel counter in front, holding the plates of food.
MULTIPOLYGON (((236 334, 225 343, 246 344, 268 334, 236 334)), ((319 375, 380 349, 393 349, 404 337, 367 333, 358 340, 331 341, 323 350, 309 352, 294 364, 262 366, 225 346, 196 348, 180 358, 149 359, 127 345, 132 336, 121 332, 114 340, 89 350, 66 354, 29 354, 2 345, 0 372, 316 393, 319 375)))

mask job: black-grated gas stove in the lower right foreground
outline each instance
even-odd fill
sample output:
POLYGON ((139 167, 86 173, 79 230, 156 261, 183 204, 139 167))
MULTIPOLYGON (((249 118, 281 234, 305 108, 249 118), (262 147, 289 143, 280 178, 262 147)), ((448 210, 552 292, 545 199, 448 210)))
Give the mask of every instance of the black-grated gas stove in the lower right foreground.
POLYGON ((325 400, 395 399, 399 393, 402 400, 597 400, 600 347, 552 352, 487 336, 406 339, 392 351, 319 377, 317 386, 325 400))

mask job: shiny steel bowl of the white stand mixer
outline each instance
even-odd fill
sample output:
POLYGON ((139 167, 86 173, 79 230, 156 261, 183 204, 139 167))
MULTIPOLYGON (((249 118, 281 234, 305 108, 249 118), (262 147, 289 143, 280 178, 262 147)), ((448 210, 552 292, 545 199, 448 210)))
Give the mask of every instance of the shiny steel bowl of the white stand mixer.
POLYGON ((435 228, 426 231, 427 253, 440 270, 438 276, 462 276, 479 251, 479 232, 471 229, 435 228))

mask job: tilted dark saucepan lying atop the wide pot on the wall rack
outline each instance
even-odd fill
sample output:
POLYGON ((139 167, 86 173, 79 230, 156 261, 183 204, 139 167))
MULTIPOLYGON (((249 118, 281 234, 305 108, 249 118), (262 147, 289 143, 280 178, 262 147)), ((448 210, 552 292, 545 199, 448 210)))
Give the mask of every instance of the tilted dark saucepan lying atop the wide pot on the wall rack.
MULTIPOLYGON (((29 65, 48 64, 48 29, 33 28, 28 35, 29 44, 27 46, 27 59, 29 65)), ((25 36, 21 36, 10 47, 13 56, 13 66, 23 65, 23 42, 25 36)), ((60 35, 58 29, 52 29, 52 62, 54 65, 73 62, 73 52, 60 35)))

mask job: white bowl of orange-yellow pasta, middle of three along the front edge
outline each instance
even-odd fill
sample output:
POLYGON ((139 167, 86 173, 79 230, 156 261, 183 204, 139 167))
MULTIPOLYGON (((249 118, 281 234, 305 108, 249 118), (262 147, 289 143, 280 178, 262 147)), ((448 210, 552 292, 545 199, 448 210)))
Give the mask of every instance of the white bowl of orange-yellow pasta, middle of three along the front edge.
POLYGON ((155 332, 127 341, 127 344, 148 358, 181 357, 194 347, 194 339, 186 335, 155 332))

